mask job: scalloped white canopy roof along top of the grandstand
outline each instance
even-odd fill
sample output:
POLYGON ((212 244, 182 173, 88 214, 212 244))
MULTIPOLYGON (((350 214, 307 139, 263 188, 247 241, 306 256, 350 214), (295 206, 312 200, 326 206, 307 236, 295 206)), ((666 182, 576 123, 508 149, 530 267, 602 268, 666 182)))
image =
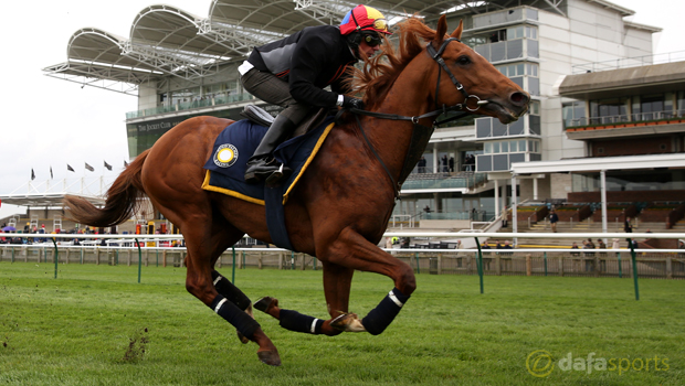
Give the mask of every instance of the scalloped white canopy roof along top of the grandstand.
MULTIPOLYGON (((557 8, 565 0, 545 0, 557 8)), ((83 28, 68 41, 64 63, 43 68, 46 75, 129 95, 162 76, 196 81, 218 71, 217 63, 246 56, 253 46, 308 25, 338 24, 358 1, 211 0, 207 17, 155 4, 143 9, 122 37, 83 28)), ((447 11, 482 13, 512 7, 510 0, 368 0, 390 21, 418 13, 429 20, 447 11)))

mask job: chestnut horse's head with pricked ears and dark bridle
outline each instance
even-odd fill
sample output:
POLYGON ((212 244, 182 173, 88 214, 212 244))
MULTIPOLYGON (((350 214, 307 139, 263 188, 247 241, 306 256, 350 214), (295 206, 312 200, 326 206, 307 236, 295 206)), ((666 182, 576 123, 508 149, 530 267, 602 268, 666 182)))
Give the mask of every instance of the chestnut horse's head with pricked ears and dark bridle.
POLYGON ((497 118, 503 124, 515 121, 524 115, 528 109, 530 95, 459 41, 463 30, 462 22, 449 37, 446 30, 447 21, 445 15, 442 15, 438 22, 435 39, 428 49, 429 55, 438 62, 436 67, 440 68, 433 77, 438 85, 434 93, 438 94, 436 104, 465 104, 468 110, 497 118), (440 57, 444 65, 440 63, 440 57), (463 88, 460 89, 460 86, 463 88))

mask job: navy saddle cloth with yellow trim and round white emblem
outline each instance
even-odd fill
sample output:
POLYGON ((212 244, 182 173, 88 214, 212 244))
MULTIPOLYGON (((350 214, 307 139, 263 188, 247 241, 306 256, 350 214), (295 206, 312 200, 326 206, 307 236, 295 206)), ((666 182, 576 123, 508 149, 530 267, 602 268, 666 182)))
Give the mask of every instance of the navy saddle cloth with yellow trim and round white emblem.
POLYGON ((293 174, 283 184, 267 187, 245 183, 247 160, 254 153, 267 128, 247 119, 228 126, 217 140, 212 156, 204 163, 207 174, 202 189, 228 194, 247 202, 266 206, 266 224, 274 245, 294 250, 287 229, 283 205, 289 193, 312 162, 322 143, 333 129, 334 117, 327 117, 324 124, 307 133, 281 143, 274 151, 278 162, 293 170, 293 174))

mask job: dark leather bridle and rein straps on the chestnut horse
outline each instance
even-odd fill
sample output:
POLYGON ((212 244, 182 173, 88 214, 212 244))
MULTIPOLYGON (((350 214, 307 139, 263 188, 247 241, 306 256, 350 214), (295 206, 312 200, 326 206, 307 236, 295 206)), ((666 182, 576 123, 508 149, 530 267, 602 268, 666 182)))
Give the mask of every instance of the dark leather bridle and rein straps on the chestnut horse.
MULTIPOLYGON (((413 117, 409 117, 409 116, 402 116, 402 115, 397 115, 397 114, 384 114, 384 112, 376 112, 376 111, 367 111, 367 110, 361 110, 358 108, 349 108, 349 109, 342 109, 340 110, 339 114, 341 114, 345 110, 349 110, 355 115, 355 118, 357 120, 357 125, 359 126, 359 130, 361 130, 361 135, 363 136, 363 139, 366 140, 367 144, 369 146, 369 149, 371 149, 371 152, 373 153, 373 156, 376 157, 376 159, 380 162, 380 164, 383 167, 383 169, 386 170, 386 173, 388 174, 388 176, 390 178, 390 182, 392 183, 392 191, 394 193, 394 200, 401 200, 400 199, 400 190, 402 189, 402 183, 404 182, 404 179, 407 179, 407 176, 409 175, 409 173, 411 172, 411 169, 413 169, 415 161, 412 162, 410 161, 410 157, 412 156, 412 148, 414 148, 414 141, 417 141, 417 139, 423 139, 425 141, 425 143, 428 144, 428 140, 430 139, 430 135, 432 135, 433 130, 435 129, 435 127, 438 127, 439 125, 455 120, 455 119, 460 119, 465 115, 468 115, 471 112, 475 112, 481 108, 481 105, 485 105, 488 103, 488 100, 481 100, 481 98, 476 95, 473 94, 468 94, 466 93, 466 90, 464 89, 464 85, 462 85, 456 77, 454 76, 454 74, 450 71, 450 67, 447 67, 445 61, 442 58, 442 53, 445 51, 445 49, 447 47, 447 44, 450 44, 453 41, 457 41, 461 43, 461 41, 456 37, 449 37, 445 41, 443 41, 442 45, 440 46, 440 49, 438 51, 435 51, 435 49, 433 49, 433 46, 431 45, 431 43, 428 44, 426 46, 426 53, 438 63, 439 66, 439 71, 438 71, 438 82, 435 85, 435 107, 438 108, 434 111, 430 111, 426 114, 422 114, 420 116, 413 116, 413 117), (440 77, 442 75, 442 71, 444 69, 447 73, 447 76, 450 76, 450 79, 452 81, 452 84, 454 84, 454 87, 456 87, 456 89, 462 93, 464 95, 464 101, 461 104, 456 104, 454 106, 445 106, 444 104, 442 105, 442 108, 440 108, 440 105, 438 104, 438 95, 440 92, 440 77), (470 108, 467 103, 468 99, 475 99, 476 101, 476 107, 475 108, 470 108), (447 119, 443 119, 440 121, 433 120, 433 125, 431 128, 428 128, 423 125, 419 124, 420 119, 423 118, 431 118, 431 117, 438 117, 442 114, 446 114, 447 111, 459 111, 461 114, 447 118, 447 119), (392 174, 390 173, 390 169, 388 169, 388 167, 386 165, 386 163, 383 162, 383 160, 380 158, 380 156, 378 154, 378 152, 376 151, 376 149, 373 148, 373 146, 371 144, 371 141, 369 141, 369 138, 366 135, 366 131, 363 130, 363 127, 361 126, 361 121, 359 120, 359 115, 365 115, 368 117, 373 117, 373 118, 380 118, 380 119, 390 119, 390 120, 408 120, 411 121, 413 124, 413 132, 412 132, 412 143, 410 143, 409 146, 409 151, 408 154, 404 157, 404 167, 402 168, 402 171, 400 172, 400 181, 394 181, 394 178, 392 176, 392 174), (423 129, 421 131, 425 131, 425 129, 430 130, 428 137, 422 133, 417 133, 417 129, 423 129), (411 168, 408 170, 408 168, 411 168)), ((336 119, 337 120, 337 119, 336 119)), ((417 160, 418 161, 418 160, 417 160)))

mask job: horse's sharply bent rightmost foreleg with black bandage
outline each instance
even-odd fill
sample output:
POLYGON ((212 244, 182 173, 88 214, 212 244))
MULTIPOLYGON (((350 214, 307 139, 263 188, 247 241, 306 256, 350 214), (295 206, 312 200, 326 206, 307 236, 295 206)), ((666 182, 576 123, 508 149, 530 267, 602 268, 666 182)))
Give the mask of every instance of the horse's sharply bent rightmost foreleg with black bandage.
MULTIPOLYGON (((349 227, 342 229, 333 243, 322 244, 317 250, 322 250, 322 260, 349 269, 382 274, 394 281, 394 288, 361 320, 363 329, 372 335, 380 334, 392 323, 417 288, 414 272, 409 265, 381 250, 349 227)), ((334 320, 331 324, 345 331, 362 331, 354 314, 351 318, 334 320)))

